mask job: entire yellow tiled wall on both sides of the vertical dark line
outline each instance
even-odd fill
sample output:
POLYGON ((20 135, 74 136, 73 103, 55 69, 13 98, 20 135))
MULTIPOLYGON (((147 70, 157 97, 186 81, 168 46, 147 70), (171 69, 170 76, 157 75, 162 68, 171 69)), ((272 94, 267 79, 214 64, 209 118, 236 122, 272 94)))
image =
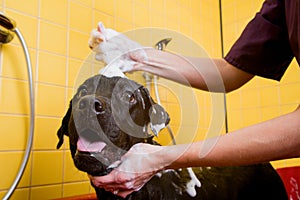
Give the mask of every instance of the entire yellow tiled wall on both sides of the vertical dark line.
MULTIPOLYGON (((261 4, 262 0, 222 0, 225 53, 261 4)), ((0 11, 17 22, 25 37, 36 94, 33 151, 12 199, 52 199, 93 192, 87 176, 73 166, 68 141, 60 150, 55 147, 56 131, 71 99, 76 75, 90 53, 90 31, 98 21, 120 32, 141 27, 174 30, 201 45, 211 57, 222 55, 218 0, 2 0, 0 11)), ((1 198, 15 177, 29 131, 26 63, 17 38, 0 47, 0 62, 1 198)), ((299 90, 295 61, 280 83, 254 78, 226 95, 229 131, 292 111, 299 103, 299 90)), ((213 95, 194 92, 199 110, 197 134, 188 141, 205 138, 212 123, 213 95)), ((195 105, 179 107, 178 96, 168 88, 160 87, 160 94, 171 115, 176 140, 186 142, 185 135, 178 134, 180 126, 187 135, 189 130, 194 134, 195 127, 189 118, 181 118, 181 113, 185 110, 195 115, 195 105)), ((218 131, 223 134, 224 126, 218 131)), ((168 133, 162 133, 159 140, 169 144, 168 133)), ((299 162, 290 159, 273 165, 295 166, 299 162)))

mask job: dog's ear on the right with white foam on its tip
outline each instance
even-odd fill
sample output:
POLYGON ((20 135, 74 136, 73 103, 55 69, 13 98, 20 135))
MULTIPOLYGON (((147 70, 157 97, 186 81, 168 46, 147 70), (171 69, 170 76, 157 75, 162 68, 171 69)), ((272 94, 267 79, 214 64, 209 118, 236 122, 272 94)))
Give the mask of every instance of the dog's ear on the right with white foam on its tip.
POLYGON ((170 122, 169 114, 162 106, 154 102, 147 88, 142 88, 142 94, 144 98, 147 99, 147 101, 145 102, 148 102, 150 105, 149 108, 150 128, 154 133, 154 135, 157 136, 158 133, 169 124, 170 122))

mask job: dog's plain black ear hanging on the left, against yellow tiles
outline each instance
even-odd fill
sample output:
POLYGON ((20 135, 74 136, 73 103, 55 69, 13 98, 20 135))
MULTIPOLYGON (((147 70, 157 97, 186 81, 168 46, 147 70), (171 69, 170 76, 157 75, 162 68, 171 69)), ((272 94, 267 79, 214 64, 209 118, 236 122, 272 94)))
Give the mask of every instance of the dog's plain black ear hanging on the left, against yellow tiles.
POLYGON ((71 118, 71 114, 72 114, 72 100, 70 101, 68 111, 62 120, 61 126, 57 131, 57 137, 58 137, 59 141, 56 145, 56 149, 59 149, 61 147, 61 145, 64 143, 64 135, 69 136, 68 125, 69 125, 69 121, 71 118))

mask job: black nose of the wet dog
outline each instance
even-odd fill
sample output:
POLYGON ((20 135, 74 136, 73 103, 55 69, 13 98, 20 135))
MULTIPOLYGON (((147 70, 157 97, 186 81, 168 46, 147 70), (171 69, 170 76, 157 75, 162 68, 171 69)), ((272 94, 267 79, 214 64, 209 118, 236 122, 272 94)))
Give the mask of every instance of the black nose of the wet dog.
POLYGON ((85 96, 79 101, 78 108, 80 110, 92 109, 96 114, 101 114, 105 111, 105 103, 93 96, 85 96))

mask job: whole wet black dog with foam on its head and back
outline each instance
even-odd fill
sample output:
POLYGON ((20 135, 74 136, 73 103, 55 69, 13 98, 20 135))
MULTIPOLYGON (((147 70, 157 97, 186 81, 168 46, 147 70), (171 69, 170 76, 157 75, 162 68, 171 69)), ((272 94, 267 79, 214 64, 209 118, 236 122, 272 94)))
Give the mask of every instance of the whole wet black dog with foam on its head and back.
MULTIPOLYGON (((64 135, 69 136, 75 166, 102 176, 134 144, 158 145, 148 133, 148 125, 157 133, 168 122, 167 112, 155 104, 142 85, 126 78, 96 75, 74 95, 57 132, 57 148, 63 144, 64 135)), ((104 189, 95 190, 101 200, 122 199, 104 189)), ((274 168, 264 163, 163 171, 126 199, 282 200, 287 195, 274 168)))

